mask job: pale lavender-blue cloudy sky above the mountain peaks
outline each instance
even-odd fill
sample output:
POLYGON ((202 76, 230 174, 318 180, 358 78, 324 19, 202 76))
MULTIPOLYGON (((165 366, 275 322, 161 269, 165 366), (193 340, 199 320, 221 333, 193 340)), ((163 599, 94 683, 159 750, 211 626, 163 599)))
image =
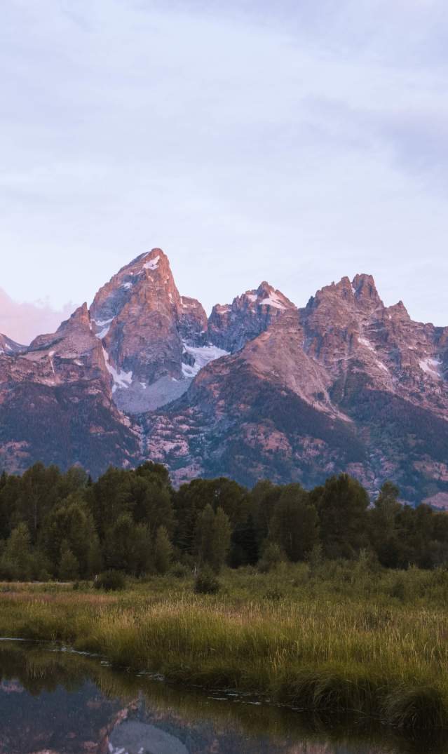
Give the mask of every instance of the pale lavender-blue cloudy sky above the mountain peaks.
POLYGON ((446 0, 2 3, 0 332, 152 247, 207 311, 367 272, 448 324, 446 38, 446 0))

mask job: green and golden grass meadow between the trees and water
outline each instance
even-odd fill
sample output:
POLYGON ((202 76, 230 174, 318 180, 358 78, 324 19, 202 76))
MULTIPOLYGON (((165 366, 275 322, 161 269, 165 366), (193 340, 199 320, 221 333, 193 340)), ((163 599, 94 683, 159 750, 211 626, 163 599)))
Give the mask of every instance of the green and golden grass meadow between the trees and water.
POLYGON ((192 578, 120 593, 0 584, 0 635, 66 642, 118 667, 252 691, 396 728, 448 727, 448 572, 356 563, 227 571, 216 596, 192 578))

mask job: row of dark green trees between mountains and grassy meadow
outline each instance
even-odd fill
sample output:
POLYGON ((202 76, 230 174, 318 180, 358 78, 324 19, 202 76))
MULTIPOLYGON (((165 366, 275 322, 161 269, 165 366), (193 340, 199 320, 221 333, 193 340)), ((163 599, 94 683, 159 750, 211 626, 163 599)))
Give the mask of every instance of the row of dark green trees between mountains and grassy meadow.
POLYGON ((104 569, 129 575, 210 566, 258 566, 354 559, 431 569, 448 562, 448 516, 398 501, 386 482, 373 504, 348 474, 315 489, 268 480, 247 489, 225 477, 173 489, 167 469, 147 461, 111 467, 97 481, 34 464, 0 477, 0 578, 91 579, 104 569))

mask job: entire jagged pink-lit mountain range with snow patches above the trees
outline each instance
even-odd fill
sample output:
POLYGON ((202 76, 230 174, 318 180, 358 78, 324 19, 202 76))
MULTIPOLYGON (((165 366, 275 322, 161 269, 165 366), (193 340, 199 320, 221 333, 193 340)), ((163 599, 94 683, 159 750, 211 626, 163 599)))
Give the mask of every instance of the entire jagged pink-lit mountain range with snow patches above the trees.
POLYGON ((0 335, 0 469, 35 461, 167 464, 175 484, 229 476, 448 507, 448 327, 386 307, 373 277, 298 308, 262 282, 210 317, 153 249, 28 346, 0 335))

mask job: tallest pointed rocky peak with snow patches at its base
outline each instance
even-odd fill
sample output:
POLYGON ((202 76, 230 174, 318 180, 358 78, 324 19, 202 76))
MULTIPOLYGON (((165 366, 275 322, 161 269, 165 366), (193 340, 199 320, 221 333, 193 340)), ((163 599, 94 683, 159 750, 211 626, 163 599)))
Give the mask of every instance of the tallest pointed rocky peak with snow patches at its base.
POLYGON ((114 401, 124 412, 149 411, 180 397, 199 364, 214 356, 201 351, 207 346, 204 309, 181 298, 161 249, 138 256, 100 289, 91 320, 114 401))

